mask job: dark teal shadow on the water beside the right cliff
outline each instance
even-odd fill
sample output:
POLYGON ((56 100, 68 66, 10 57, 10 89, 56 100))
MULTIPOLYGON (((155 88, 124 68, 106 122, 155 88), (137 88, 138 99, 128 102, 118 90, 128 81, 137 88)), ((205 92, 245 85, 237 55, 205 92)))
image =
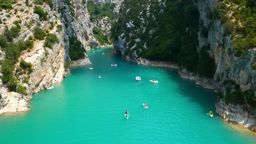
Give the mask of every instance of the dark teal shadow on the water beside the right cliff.
POLYGON ((177 70, 166 69, 165 72, 169 75, 170 80, 177 83, 177 91, 180 92, 182 96, 190 98, 191 103, 197 103, 206 112, 210 110, 215 111, 215 101, 217 98, 213 90, 204 89, 196 85, 192 80, 181 78, 177 70))

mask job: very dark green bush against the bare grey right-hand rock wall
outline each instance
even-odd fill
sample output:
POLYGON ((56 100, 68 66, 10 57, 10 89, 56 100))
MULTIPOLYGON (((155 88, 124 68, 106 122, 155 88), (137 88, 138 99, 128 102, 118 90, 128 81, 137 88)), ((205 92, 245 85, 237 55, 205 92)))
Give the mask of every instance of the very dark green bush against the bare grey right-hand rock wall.
POLYGON ((202 48, 199 53, 199 60, 197 65, 197 72, 200 76, 213 78, 215 73, 215 62, 209 54, 202 48))

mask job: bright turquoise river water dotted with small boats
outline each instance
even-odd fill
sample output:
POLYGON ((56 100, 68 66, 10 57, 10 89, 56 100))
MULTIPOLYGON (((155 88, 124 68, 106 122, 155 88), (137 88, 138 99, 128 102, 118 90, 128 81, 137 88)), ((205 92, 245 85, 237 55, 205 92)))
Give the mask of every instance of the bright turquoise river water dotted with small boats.
POLYGON ((256 143, 256 135, 207 115, 215 112, 214 92, 181 79, 177 70, 137 65, 104 50, 88 51, 92 65, 71 69, 62 83, 35 94, 31 111, 1 115, 0 143, 256 143))

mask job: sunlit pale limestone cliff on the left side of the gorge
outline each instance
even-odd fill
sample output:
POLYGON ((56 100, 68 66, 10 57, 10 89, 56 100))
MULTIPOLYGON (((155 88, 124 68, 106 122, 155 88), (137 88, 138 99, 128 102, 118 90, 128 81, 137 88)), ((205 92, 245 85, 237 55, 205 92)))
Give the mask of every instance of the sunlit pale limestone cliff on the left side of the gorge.
MULTIPOLYGON (((72 45, 69 43, 70 37, 81 44, 79 49, 96 48, 98 46, 98 42, 92 35, 86 3, 82 5, 82 0, 71 1, 69 3, 72 5, 71 11, 69 8, 71 6, 65 3, 65 0, 52 0, 52 2, 53 6, 49 7, 46 3, 43 3, 43 5, 35 4, 33 0, 29 0, 26 4, 23 0, 18 0, 17 3, 13 4, 13 9, 8 10, 8 13, 7 10, 2 10, 3 15, 0 18, 5 22, 0 24, 0 34, 4 33, 5 25, 9 26, 10 29, 11 27, 16 27, 13 22, 21 20, 19 24, 21 27, 20 33, 13 39, 13 42, 18 43, 31 38, 34 40, 31 49, 21 51, 20 58, 14 65, 15 72, 12 73, 16 77, 18 84, 25 87, 26 94, 21 94, 20 91, 10 92, 9 84, 3 84, 1 78, 0 114, 29 111, 29 105, 26 101, 32 99, 33 93, 40 92, 53 83, 62 82, 63 76, 69 73, 67 62, 71 62, 72 65, 90 63, 85 50, 82 50, 84 54, 79 59, 69 57, 69 50, 74 47, 73 43, 71 43, 72 45), (39 15, 33 13, 34 6, 42 7, 43 11, 47 12, 46 20, 40 20, 39 15), (53 43, 51 48, 44 46, 46 45, 46 40, 39 40, 34 37, 34 28, 36 27, 56 35, 56 41, 58 42, 53 43), (22 59, 32 64, 32 72, 27 73, 24 71, 24 73, 21 71, 23 72, 21 73, 20 70, 18 71, 22 59)), ((5 51, 1 48, 0 60, 5 59, 5 51)))

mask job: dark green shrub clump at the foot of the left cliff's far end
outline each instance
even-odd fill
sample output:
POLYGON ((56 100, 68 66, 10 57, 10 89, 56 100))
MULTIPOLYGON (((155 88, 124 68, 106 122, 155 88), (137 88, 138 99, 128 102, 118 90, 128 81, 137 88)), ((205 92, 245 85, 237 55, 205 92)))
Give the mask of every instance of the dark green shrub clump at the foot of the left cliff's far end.
POLYGON ((71 60, 83 59, 85 52, 84 46, 75 36, 69 37, 69 57, 71 60))

